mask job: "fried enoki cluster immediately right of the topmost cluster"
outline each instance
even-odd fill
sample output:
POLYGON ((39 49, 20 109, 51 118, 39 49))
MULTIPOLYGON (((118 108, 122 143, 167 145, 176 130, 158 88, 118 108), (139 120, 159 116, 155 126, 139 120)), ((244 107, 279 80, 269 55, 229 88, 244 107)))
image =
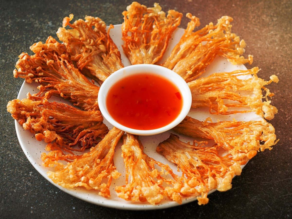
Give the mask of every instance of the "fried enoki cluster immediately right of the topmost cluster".
POLYGON ((226 57, 232 64, 252 63, 252 55, 248 55, 248 58, 241 56, 246 44, 231 32, 231 17, 223 16, 216 25, 211 22, 196 32, 193 30, 200 25, 199 18, 190 13, 187 13, 187 17, 191 21, 185 33, 162 66, 189 82, 203 74, 207 65, 218 55, 226 57))

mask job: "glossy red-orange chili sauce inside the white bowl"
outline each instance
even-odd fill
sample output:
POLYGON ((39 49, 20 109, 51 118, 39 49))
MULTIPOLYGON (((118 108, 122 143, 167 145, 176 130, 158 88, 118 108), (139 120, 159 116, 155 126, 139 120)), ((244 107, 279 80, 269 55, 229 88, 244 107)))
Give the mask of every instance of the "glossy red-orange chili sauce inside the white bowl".
POLYGON ((168 79, 150 73, 135 74, 114 84, 106 97, 111 117, 128 128, 151 130, 170 124, 183 99, 168 79))

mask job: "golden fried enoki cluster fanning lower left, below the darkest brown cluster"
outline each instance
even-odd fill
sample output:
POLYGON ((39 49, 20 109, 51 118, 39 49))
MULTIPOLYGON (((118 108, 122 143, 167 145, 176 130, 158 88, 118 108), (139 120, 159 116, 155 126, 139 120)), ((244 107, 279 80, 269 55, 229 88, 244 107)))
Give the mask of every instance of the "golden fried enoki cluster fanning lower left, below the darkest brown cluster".
POLYGON ((109 197, 112 179, 121 175, 114 166, 114 149, 124 131, 112 128, 98 145, 65 166, 60 165, 55 172, 48 172, 54 183, 65 188, 84 187, 98 190, 99 195, 109 197), (106 183, 103 180, 107 180, 106 183))

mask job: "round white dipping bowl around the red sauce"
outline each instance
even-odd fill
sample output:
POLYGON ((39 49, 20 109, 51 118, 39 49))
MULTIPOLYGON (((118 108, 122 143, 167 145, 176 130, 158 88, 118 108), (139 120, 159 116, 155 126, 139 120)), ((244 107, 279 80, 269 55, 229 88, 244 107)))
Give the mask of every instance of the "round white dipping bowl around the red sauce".
POLYGON ((113 126, 134 135, 156 135, 178 125, 183 119, 187 116, 188 112, 190 111, 192 105, 192 94, 190 91, 189 86, 185 82, 185 80, 180 77, 177 73, 173 72, 172 70, 159 66, 159 65, 151 65, 151 64, 138 64, 138 65, 130 65, 124 67, 122 69, 117 70, 113 74, 111 74, 101 85, 100 90, 98 92, 98 105, 103 117, 113 126), (111 115, 109 114, 106 106, 106 99, 107 94, 112 88, 114 84, 116 84, 121 79, 131 76, 133 74, 155 74, 160 77, 164 77, 171 81, 176 87, 178 87, 182 99, 183 99, 183 106, 180 111, 180 114, 168 125, 163 126, 161 128, 152 129, 152 130, 138 130, 133 128, 128 128, 119 124, 116 120, 114 120, 111 115))

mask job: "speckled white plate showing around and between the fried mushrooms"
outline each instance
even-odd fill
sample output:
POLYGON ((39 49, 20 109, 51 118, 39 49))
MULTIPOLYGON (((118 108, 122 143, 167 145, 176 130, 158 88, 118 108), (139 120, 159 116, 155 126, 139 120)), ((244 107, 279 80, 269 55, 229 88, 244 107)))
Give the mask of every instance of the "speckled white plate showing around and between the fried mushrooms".
MULTIPOLYGON (((184 29, 178 28, 172 36, 172 39, 169 42, 168 45, 168 50, 166 51, 164 55, 167 57, 172 48, 175 46, 175 44, 178 43, 180 40, 180 37, 183 35, 184 29)), ((130 65, 130 62, 126 58, 126 56, 123 53, 122 50, 122 44, 123 41, 121 40, 121 25, 115 25, 114 29, 110 31, 110 35, 113 39, 113 41, 117 44, 120 52, 121 52, 121 58, 123 64, 126 66, 130 65)), ((234 71, 237 69, 246 69, 244 65, 232 65, 230 64, 227 60, 224 58, 216 58, 211 65, 207 67, 206 73, 202 75, 202 77, 206 77, 214 72, 230 72, 234 71)), ((18 99, 23 99, 26 98, 26 94, 30 92, 31 94, 37 93, 38 89, 36 88, 37 84, 33 82, 32 84, 24 82, 20 88, 19 94, 18 94, 18 99)), ((56 98, 53 97, 51 100, 57 101, 57 102, 65 102, 69 103, 62 98, 56 98)), ((232 120, 233 118, 237 119, 238 121, 250 121, 250 120, 259 120, 261 119, 259 116, 257 116, 254 113, 248 113, 248 114, 233 114, 233 115, 210 115, 209 110, 206 108, 201 108, 201 109, 195 109, 191 110, 189 113, 190 116, 193 118, 199 119, 199 120, 204 120, 207 117, 211 117, 213 121, 217 121, 217 119, 220 120, 232 120)), ((112 128, 112 125, 109 124, 107 121, 104 121, 105 124, 110 128, 112 128)), ((17 133, 18 140, 20 142, 20 145, 22 147, 23 152, 25 153, 27 159, 30 161, 30 163, 34 166, 34 168, 44 177, 46 180, 49 182, 53 183, 51 179, 49 179, 46 175, 47 171, 50 171, 52 169, 46 168, 42 166, 42 161, 40 159, 41 153, 46 152, 44 150, 46 143, 41 141, 37 141, 34 138, 34 134, 30 133, 27 130, 24 130, 20 124, 15 120, 15 129, 17 133)), ((173 131, 167 131, 165 133, 161 133, 158 135, 154 136, 141 136, 140 140, 142 141, 144 145, 144 152, 154 158, 157 161, 160 161, 164 164, 168 164, 174 171, 174 173, 177 173, 177 167, 170 163, 168 160, 166 160, 162 155, 156 153, 156 147, 157 145, 167 139, 170 135, 170 133, 174 133, 173 131)), ((185 141, 185 142, 192 142, 193 139, 189 138, 187 136, 179 135, 180 140, 185 141)), ((212 143, 212 142, 210 142, 212 143)), ((114 187, 116 185, 124 185, 125 184, 125 176, 124 176, 124 162, 121 157, 121 142, 119 145, 116 147, 115 151, 115 156, 114 156, 114 163, 117 167, 117 170, 122 173, 121 177, 119 177, 117 180, 112 180, 112 185, 110 187, 111 191, 111 197, 110 198, 104 198, 102 196, 98 195, 98 192, 93 191, 93 190, 85 190, 82 188, 75 188, 75 189, 65 189, 55 183, 53 185, 57 186, 60 190, 67 192, 68 194, 71 194, 79 199, 82 199, 84 201, 88 201, 93 204, 101 205, 101 206, 106 206, 106 207, 111 207, 111 208, 119 208, 119 209, 129 209, 129 210, 150 210, 150 209, 161 209, 161 208, 169 208, 172 206, 177 206, 178 203, 175 201, 169 201, 167 198, 162 200, 160 204, 158 205, 151 205, 147 203, 140 203, 140 202, 130 202, 130 201, 125 201, 124 199, 121 199, 117 197, 114 187)), ((177 173, 179 175, 179 173, 177 173)), ((215 190, 210 191, 213 192, 215 190)), ((183 200, 183 204, 191 202, 196 200, 196 197, 189 197, 183 200)))

